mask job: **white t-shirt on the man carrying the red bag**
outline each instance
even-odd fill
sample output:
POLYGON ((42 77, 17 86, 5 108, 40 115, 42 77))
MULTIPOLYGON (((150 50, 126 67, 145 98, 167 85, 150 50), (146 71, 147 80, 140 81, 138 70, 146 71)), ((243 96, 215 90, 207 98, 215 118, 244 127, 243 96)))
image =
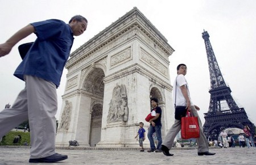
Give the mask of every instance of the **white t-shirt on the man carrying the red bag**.
POLYGON ((192 103, 192 100, 190 98, 190 94, 189 94, 189 88, 188 88, 188 83, 184 77, 183 74, 179 74, 177 75, 175 81, 174 81, 174 90, 172 90, 172 99, 173 99, 173 102, 175 104, 175 101, 176 101, 176 106, 187 106, 187 101, 186 99, 184 98, 182 92, 181 92, 181 89, 180 87, 185 85, 187 87, 187 90, 188 90, 188 98, 191 102, 191 105, 193 105, 192 103), (177 82, 177 83, 176 83, 177 82), (175 97, 176 95, 176 97, 175 97), (176 98, 176 100, 175 100, 176 98))

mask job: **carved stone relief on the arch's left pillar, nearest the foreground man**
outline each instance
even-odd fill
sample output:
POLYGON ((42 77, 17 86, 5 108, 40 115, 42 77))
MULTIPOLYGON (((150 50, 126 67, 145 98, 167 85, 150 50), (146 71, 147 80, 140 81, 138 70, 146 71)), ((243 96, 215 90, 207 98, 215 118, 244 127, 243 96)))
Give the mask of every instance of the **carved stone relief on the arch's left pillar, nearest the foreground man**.
POLYGON ((61 123, 59 129, 68 129, 72 112, 72 102, 65 100, 65 107, 61 116, 61 123))

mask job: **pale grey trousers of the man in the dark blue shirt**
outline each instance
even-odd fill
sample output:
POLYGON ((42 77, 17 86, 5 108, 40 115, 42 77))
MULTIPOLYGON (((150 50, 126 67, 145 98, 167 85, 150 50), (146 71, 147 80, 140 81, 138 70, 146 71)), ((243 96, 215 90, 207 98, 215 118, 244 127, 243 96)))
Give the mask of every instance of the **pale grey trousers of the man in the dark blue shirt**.
POLYGON ((13 106, 0 112, 0 137, 24 120, 29 120, 30 158, 44 158, 55 154, 57 93, 52 82, 24 75, 26 87, 13 106))

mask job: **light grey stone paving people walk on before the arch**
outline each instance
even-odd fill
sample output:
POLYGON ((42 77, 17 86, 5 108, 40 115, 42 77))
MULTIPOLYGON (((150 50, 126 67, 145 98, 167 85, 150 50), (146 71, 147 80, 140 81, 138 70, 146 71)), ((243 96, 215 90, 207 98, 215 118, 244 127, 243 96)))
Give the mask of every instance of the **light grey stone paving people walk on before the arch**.
POLYGON ((81 147, 59 147, 57 153, 67 154, 68 159, 59 163, 28 163, 28 147, 0 146, 0 164, 256 164, 256 147, 220 149, 210 147, 213 156, 198 156, 195 148, 174 148, 163 153, 140 152, 138 149, 96 149, 81 147))

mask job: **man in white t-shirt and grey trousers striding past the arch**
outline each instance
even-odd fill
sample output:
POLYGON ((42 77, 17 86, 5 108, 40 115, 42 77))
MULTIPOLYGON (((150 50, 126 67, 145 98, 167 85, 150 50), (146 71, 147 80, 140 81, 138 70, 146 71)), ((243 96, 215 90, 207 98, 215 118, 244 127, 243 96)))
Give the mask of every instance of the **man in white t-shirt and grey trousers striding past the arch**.
MULTIPOLYGON (((178 106, 184 106, 188 111, 192 114, 192 116, 195 116, 198 118, 199 122, 199 130, 200 130, 200 137, 197 138, 197 154, 198 155, 214 155, 215 153, 209 152, 208 147, 208 141, 207 138, 204 135, 202 123, 199 118, 199 115, 197 111, 199 111, 199 107, 197 107, 195 104, 192 103, 191 97, 189 94, 189 88, 188 83, 185 79, 185 75, 187 74, 187 66, 185 64, 180 64, 177 66, 177 78, 174 82, 174 96, 172 98, 174 99, 174 103, 176 107, 178 106)), ((175 108, 176 108, 175 107, 175 108)), ((176 113, 176 112, 175 112, 176 113)), ((169 150, 172 147, 172 144, 174 143, 174 139, 179 133, 181 129, 181 121, 179 118, 175 117, 174 125, 168 130, 168 133, 166 134, 166 138, 164 138, 164 141, 162 143, 162 151, 163 154, 166 156, 172 156, 173 154, 169 153, 169 150)))

